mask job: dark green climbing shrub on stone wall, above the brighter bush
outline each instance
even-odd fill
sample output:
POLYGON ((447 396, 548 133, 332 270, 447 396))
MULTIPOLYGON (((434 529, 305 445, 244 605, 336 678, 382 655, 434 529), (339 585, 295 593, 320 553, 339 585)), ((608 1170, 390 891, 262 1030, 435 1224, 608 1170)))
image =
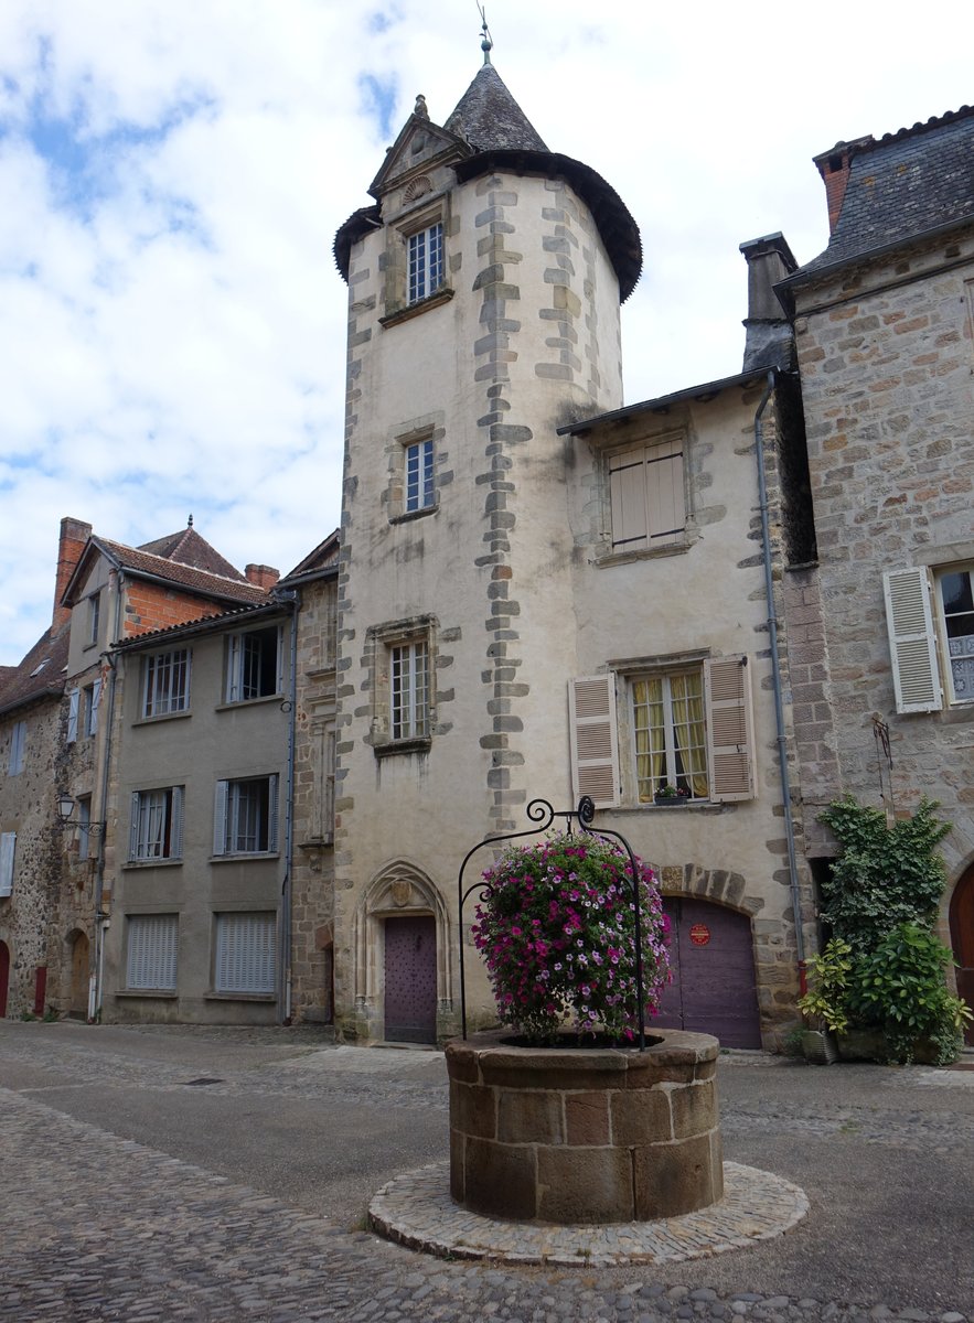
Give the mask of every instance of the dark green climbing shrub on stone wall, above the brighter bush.
POLYGON ((856 953, 875 951, 901 923, 934 922, 946 884, 937 845, 950 831, 937 807, 924 796, 891 827, 881 810, 846 795, 820 815, 842 845, 822 885, 822 918, 856 953))

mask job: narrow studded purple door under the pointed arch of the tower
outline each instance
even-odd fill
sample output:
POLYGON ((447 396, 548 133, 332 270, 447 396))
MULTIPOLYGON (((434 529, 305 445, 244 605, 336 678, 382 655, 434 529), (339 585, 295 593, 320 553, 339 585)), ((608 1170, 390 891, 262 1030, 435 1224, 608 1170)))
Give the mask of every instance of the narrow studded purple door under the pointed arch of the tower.
POLYGON ((385 1037, 437 1041, 437 921, 418 914, 385 921, 385 1037))

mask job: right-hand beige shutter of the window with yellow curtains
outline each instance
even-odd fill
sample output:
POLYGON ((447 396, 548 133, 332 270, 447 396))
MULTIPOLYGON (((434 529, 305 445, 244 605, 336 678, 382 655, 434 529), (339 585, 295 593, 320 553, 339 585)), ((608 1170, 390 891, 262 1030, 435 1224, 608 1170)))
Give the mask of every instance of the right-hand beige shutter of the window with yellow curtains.
POLYGON ((757 770, 748 658, 708 658, 704 680, 711 799, 753 799, 757 770))

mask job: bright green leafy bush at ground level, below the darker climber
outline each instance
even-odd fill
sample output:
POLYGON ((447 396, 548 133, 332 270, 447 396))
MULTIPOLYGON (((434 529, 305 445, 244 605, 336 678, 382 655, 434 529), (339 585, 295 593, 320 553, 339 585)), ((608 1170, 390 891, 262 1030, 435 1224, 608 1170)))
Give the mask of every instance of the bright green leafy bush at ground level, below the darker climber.
POLYGON ((858 958, 850 1009, 860 1023, 884 1031, 892 1060, 912 1061, 917 1039, 933 1044, 937 1065, 957 1057, 971 1012, 946 988, 950 962, 949 947, 918 923, 899 923, 858 958))

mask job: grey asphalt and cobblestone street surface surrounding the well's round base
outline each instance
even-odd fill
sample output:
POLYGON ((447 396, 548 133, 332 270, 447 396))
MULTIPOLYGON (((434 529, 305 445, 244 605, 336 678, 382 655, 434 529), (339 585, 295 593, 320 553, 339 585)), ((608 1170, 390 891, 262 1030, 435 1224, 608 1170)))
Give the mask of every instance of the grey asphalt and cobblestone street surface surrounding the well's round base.
POLYGON ((446 1158, 445 1080, 439 1053, 335 1048, 315 1031, 0 1021, 0 1319, 974 1316, 974 1069, 725 1054, 725 1156, 801 1185, 809 1216, 753 1249, 586 1278, 439 1263, 363 1234, 380 1185, 446 1158), (65 1192, 90 1209, 83 1236, 65 1192), (202 1220, 212 1199, 220 1217, 202 1220), (263 1207, 273 1222, 247 1221, 263 1207), (283 1287, 244 1273, 255 1294, 228 1301, 226 1245, 220 1265, 192 1258, 221 1220, 241 1262, 290 1263, 283 1287), (274 1238, 288 1220, 290 1250, 274 1238), (130 1301, 119 1246, 163 1222, 130 1301), (172 1244, 191 1256, 175 1277, 172 1244))

